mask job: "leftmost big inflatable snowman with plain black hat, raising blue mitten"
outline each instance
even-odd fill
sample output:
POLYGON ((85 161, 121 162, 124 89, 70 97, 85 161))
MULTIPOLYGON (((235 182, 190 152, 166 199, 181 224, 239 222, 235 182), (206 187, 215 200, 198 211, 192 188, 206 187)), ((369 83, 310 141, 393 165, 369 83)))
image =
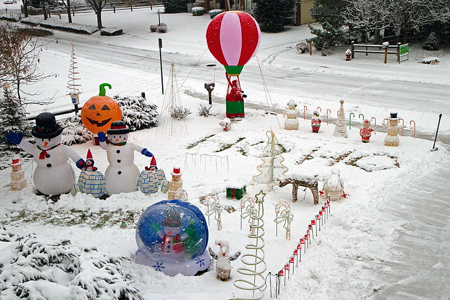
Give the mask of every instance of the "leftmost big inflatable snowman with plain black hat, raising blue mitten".
POLYGON ((33 155, 37 166, 33 173, 36 189, 46 195, 58 195, 70 191, 75 182, 68 158, 78 168, 82 168, 84 160, 69 146, 61 145, 62 126, 56 123, 54 115, 42 112, 36 116, 36 126, 31 129, 35 145, 22 139, 23 133, 9 132, 6 138, 33 155))

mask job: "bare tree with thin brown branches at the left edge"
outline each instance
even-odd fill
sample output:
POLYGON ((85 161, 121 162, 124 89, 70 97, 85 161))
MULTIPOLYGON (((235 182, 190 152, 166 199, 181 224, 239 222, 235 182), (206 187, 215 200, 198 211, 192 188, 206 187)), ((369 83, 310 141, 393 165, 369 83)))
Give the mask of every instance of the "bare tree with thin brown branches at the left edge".
POLYGON ((51 102, 38 101, 31 102, 21 97, 22 94, 37 95, 36 93, 26 93, 22 90, 22 85, 36 83, 47 77, 56 76, 54 73, 45 74, 39 71, 37 64, 42 49, 50 41, 43 41, 38 37, 28 34, 30 27, 16 27, 12 22, 0 23, 0 80, 10 82, 10 87, 16 92, 21 103, 45 104, 51 102))

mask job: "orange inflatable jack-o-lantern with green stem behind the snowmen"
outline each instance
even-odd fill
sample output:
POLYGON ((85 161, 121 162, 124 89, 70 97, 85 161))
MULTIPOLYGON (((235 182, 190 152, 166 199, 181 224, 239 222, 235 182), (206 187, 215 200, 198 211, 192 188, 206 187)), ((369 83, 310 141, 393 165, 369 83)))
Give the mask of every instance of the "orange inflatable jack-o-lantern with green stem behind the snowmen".
POLYGON ((105 96, 105 86, 111 88, 111 84, 101 83, 98 96, 91 97, 81 108, 81 121, 93 133, 105 132, 113 121, 120 121, 122 118, 117 102, 105 96))

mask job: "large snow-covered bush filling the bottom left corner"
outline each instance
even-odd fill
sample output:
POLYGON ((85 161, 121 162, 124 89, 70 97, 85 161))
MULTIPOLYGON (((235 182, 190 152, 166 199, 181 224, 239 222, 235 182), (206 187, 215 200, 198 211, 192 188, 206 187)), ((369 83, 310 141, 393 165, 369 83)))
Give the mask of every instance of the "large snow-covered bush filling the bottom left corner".
POLYGON ((0 256, 1 299, 142 299, 121 269, 126 257, 79 248, 62 238, 18 236, 5 228, 0 240, 9 243, 0 256))

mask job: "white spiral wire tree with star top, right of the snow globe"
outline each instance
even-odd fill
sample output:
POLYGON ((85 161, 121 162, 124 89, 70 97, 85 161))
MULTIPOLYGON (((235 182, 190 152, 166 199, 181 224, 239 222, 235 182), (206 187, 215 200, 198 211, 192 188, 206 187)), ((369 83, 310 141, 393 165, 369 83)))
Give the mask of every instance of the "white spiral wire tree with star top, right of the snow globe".
POLYGON ((266 270, 266 265, 264 261, 264 240, 262 236, 264 235, 264 221, 262 216, 264 215, 264 206, 262 204, 264 200, 265 193, 262 190, 255 195, 255 203, 258 205, 258 213, 256 215, 250 215, 253 222, 250 224, 251 228, 254 228, 253 233, 249 233, 248 237, 253 239, 254 242, 249 243, 245 246, 249 253, 246 253, 240 257, 240 260, 244 267, 238 268, 237 272, 242 275, 249 276, 248 279, 237 279, 234 281, 234 286, 238 289, 244 290, 243 297, 233 297, 237 300, 258 300, 262 299, 264 296, 262 288, 265 285, 265 279, 262 275, 266 270), (245 291, 251 291, 251 296, 246 295, 245 291))

